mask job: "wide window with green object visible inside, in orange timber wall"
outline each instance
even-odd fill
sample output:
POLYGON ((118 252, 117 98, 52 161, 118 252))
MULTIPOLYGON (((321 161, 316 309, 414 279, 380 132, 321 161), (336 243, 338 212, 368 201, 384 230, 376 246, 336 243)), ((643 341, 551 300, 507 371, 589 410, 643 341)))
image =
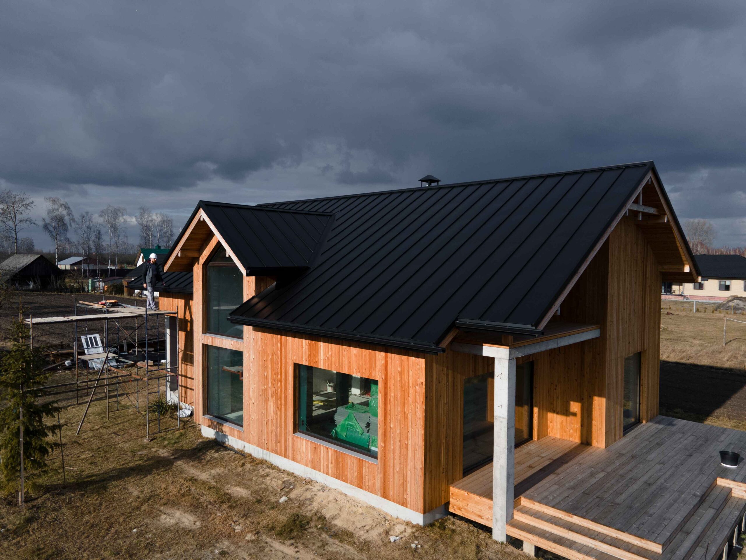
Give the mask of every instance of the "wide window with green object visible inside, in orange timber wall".
POLYGON ((378 382, 297 364, 298 431, 378 456, 378 382))

